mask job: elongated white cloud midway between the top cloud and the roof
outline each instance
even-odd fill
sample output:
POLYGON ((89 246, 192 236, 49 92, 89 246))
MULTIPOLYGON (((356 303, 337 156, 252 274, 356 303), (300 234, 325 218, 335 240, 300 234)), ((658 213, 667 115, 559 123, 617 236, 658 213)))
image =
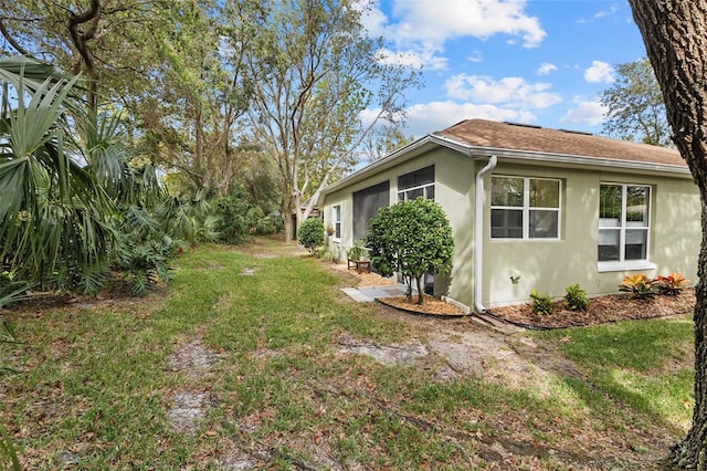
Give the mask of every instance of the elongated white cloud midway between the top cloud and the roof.
POLYGON ((488 76, 457 74, 446 81, 444 88, 454 100, 504 104, 521 109, 542 109, 562 101, 559 95, 549 91, 550 84, 531 84, 523 77, 496 81, 488 76))

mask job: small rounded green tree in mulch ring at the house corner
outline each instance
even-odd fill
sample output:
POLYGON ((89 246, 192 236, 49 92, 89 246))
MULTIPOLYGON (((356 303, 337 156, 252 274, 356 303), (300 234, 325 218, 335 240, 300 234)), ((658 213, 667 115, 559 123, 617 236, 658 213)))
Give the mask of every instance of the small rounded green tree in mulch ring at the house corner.
POLYGON ((428 272, 449 273, 454 240, 444 210, 436 202, 418 198, 378 210, 366 239, 373 265, 384 276, 402 273, 412 302, 412 281, 418 289, 416 304, 424 303, 422 276, 428 272))

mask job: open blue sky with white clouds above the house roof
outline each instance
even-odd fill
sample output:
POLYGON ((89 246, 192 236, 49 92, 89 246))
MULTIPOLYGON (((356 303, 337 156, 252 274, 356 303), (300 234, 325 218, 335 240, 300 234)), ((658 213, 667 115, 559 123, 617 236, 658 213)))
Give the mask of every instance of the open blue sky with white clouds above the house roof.
POLYGON ((415 138, 468 118, 599 134, 615 65, 646 56, 626 0, 377 0, 365 25, 422 67, 415 138))

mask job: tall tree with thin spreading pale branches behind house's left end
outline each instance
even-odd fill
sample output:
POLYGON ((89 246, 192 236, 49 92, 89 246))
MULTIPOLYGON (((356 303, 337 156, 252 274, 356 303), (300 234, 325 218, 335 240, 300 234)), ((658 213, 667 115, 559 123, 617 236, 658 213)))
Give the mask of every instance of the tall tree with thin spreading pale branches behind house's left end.
POLYGON ((277 168, 286 241, 295 233, 289 214, 309 216, 373 125, 403 117, 403 92, 416 84, 415 71, 367 35, 361 3, 270 0, 242 20, 257 31, 245 56, 250 126, 277 168), (362 123, 363 109, 377 109, 374 118, 362 123))

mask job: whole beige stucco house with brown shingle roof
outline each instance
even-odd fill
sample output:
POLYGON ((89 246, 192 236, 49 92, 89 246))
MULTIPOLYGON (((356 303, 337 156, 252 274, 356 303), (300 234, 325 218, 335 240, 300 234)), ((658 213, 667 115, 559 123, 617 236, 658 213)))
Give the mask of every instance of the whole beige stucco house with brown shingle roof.
POLYGON ((435 295, 468 310, 555 297, 578 283, 614 293, 627 274, 696 280, 697 188, 676 150, 468 119, 335 182, 319 201, 333 248, 362 240, 383 205, 434 198, 453 228, 435 295))

